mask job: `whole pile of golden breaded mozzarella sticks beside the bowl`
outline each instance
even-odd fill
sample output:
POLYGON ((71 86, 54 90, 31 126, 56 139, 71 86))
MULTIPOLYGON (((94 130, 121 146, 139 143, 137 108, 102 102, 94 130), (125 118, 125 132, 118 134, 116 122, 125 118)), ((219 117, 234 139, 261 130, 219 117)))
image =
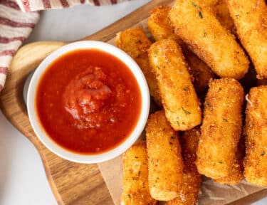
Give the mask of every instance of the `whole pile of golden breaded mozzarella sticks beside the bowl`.
POLYGON ((148 28, 152 41, 142 28, 116 38, 160 107, 123 156, 122 204, 197 204, 201 174, 267 186, 267 85, 246 95, 239 83, 250 60, 267 78, 266 2, 177 0, 152 9, 148 28))

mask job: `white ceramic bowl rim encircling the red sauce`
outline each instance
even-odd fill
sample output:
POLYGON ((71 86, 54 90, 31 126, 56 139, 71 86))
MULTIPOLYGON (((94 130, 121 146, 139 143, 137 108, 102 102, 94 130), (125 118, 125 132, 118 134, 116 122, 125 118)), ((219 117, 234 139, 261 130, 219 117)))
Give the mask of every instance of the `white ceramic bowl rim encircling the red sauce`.
POLYGON ((147 117, 150 110, 150 93, 147 87, 147 81, 145 80, 145 76, 143 75, 139 66, 124 51, 121 51, 119 48, 112 46, 108 43, 103 43, 100 41, 78 41, 75 43, 70 43, 54 51, 53 53, 51 53, 51 55, 49 55, 46 59, 44 59, 43 62, 38 66, 35 73, 33 74, 33 78, 31 78, 31 82, 28 88, 27 107, 28 107, 28 117, 30 119, 31 126, 33 127, 34 132, 36 133, 39 140, 41 140, 41 142, 43 142, 43 144, 48 149, 50 149, 51 152, 57 154, 58 156, 64 159, 68 159, 72 162, 90 164, 90 163, 104 162, 107 161, 108 159, 115 158, 120 154, 122 154, 123 152, 125 152, 128 148, 132 146, 132 144, 135 143, 138 137, 140 137, 147 122, 147 117), (48 68, 48 65, 50 65, 56 58, 62 56, 64 53, 68 53, 69 51, 73 51, 80 48, 82 49, 98 48, 101 51, 108 52, 113 56, 120 58, 120 60, 123 61, 135 75, 137 83, 140 86, 140 91, 142 95, 141 114, 137 122, 137 126, 135 127, 135 130, 133 130, 130 136, 127 137, 127 139, 121 144, 119 144, 117 147, 110 149, 107 152, 103 152, 101 154, 76 154, 56 144, 56 142, 51 140, 51 138, 46 134, 45 130, 41 125, 41 122, 38 122, 38 115, 36 112, 36 88, 38 85, 38 81, 40 80, 46 68, 48 68))

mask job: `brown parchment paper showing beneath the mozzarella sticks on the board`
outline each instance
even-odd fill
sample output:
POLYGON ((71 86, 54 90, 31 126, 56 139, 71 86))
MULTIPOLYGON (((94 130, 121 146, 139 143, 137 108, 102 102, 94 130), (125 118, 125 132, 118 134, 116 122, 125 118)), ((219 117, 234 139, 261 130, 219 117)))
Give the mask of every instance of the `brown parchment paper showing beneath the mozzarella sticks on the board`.
MULTIPOLYGON (((147 36, 151 38, 147 29, 147 19, 137 23, 133 27, 142 27, 147 36)), ((115 38, 108 43, 115 45, 115 38)), ((143 137, 143 136, 142 136, 143 137)), ((111 159, 108 162, 98 164, 103 179, 108 186, 110 195, 115 205, 120 205, 120 199, 122 194, 122 156, 115 159, 111 159)), ((221 185, 213 182, 212 179, 204 177, 201 184, 201 190, 199 191, 199 204, 200 205, 225 205, 231 204, 233 201, 238 201, 245 196, 255 194, 258 191, 263 190, 263 187, 253 186, 246 181, 241 182, 239 185, 229 186, 221 185)), ((263 194, 258 194, 263 197, 263 194)), ((253 199, 260 199, 253 196, 253 199)), ((244 205, 245 203, 241 203, 244 205)), ((248 203, 246 203, 248 204, 248 203)), ((250 202, 249 202, 250 204, 250 202)))

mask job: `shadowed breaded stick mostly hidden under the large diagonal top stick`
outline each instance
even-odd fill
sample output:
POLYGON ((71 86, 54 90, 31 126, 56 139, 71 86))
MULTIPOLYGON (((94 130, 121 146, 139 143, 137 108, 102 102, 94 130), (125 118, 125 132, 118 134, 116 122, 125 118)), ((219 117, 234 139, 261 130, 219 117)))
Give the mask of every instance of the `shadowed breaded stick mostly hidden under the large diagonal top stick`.
POLYGON ((152 9, 147 22, 148 29, 156 41, 172 38, 182 46, 184 57, 189 65, 188 72, 193 78, 194 88, 197 92, 204 91, 209 80, 214 77, 214 73, 206 63, 201 61, 192 51, 189 51, 182 40, 173 33, 172 27, 169 25, 168 14, 170 9, 169 6, 157 6, 152 9))

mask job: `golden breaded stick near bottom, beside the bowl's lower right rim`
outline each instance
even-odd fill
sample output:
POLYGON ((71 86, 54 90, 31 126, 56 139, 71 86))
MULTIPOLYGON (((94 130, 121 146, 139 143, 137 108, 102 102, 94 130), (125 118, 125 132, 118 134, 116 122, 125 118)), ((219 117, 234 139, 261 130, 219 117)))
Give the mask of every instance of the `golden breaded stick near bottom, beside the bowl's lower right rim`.
POLYGON ((169 201, 178 196, 183 177, 177 132, 161 110, 148 118, 146 133, 150 194, 159 201, 169 201))

